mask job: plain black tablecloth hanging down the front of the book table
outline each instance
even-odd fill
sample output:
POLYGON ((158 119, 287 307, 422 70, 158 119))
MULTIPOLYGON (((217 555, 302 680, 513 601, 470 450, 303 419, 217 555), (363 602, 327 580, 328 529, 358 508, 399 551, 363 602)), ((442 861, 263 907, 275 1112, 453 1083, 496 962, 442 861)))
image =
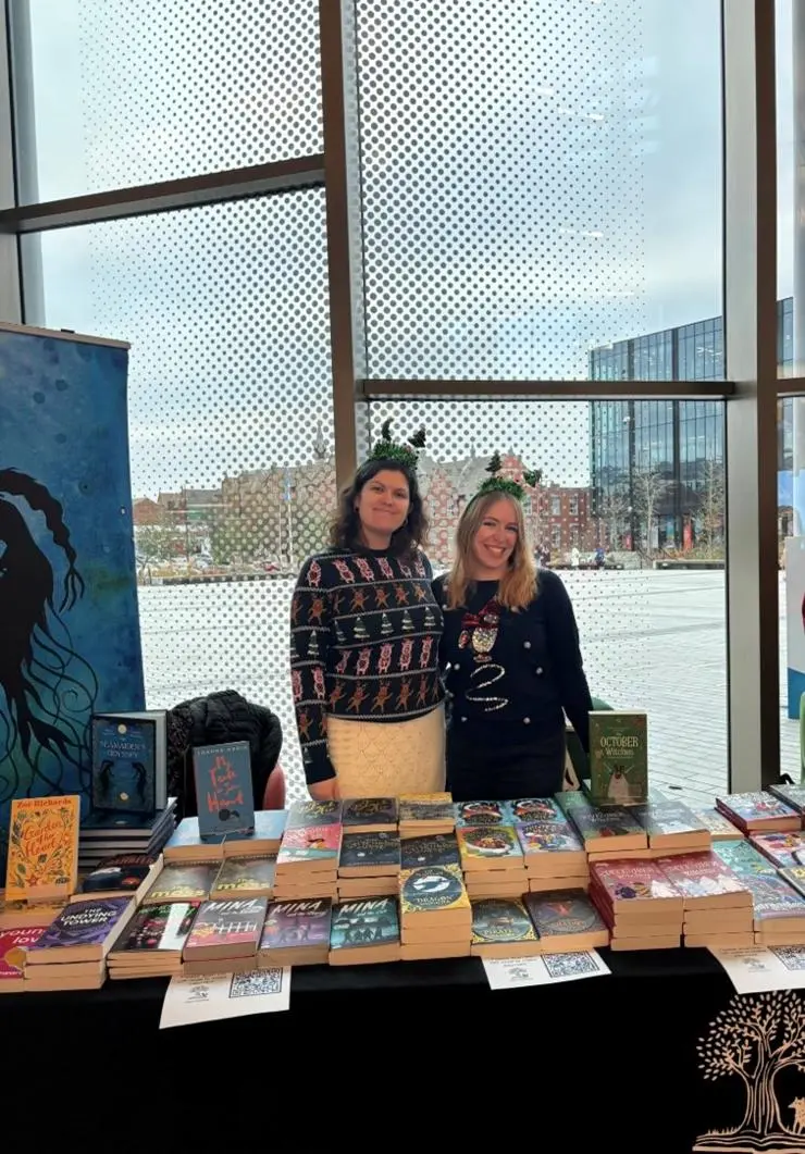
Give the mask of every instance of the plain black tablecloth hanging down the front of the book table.
MULTIPOLYGON (((72 1131, 85 1149, 401 1138, 687 1154, 703 1131, 738 1126, 741 1077, 705 1079, 696 1046, 718 1013, 758 999, 738 999, 701 950, 602 957, 612 976, 506 991, 489 989, 475 958, 299 968, 288 1013, 167 1031, 163 980, 8 995, 2 1133, 30 1139, 39 1119, 43 1139, 72 1131)), ((783 1074, 790 1122, 805 1074, 783 1074)))

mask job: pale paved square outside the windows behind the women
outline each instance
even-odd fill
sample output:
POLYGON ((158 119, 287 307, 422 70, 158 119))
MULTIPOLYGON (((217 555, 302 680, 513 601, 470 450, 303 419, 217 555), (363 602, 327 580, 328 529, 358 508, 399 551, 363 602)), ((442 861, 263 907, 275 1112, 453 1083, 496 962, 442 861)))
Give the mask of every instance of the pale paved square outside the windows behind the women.
MULTIPOLYGON (((726 788, 724 574, 565 572, 592 694, 649 714, 650 774, 707 803, 726 788)), ((140 590, 152 707, 216 689, 269 705, 283 724, 282 764, 303 789, 288 669, 292 583, 140 590)), ((785 583, 781 576, 781 766, 798 778, 798 725, 787 717, 785 583)))

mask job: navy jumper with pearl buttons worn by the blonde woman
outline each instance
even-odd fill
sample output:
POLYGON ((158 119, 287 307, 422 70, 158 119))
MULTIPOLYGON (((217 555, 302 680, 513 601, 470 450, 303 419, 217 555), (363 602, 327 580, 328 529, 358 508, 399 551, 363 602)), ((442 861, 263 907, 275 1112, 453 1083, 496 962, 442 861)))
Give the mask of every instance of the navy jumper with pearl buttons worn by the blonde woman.
POLYGON ((448 725, 461 727, 462 737, 472 741, 527 744, 562 728, 566 714, 588 750, 592 703, 561 578, 550 569, 539 570, 536 598, 524 609, 501 612, 490 661, 483 664, 475 661, 471 647, 459 646, 459 638, 464 615, 484 608, 497 582, 476 582, 467 606, 448 609, 445 579, 433 582, 433 592, 445 613, 439 665, 448 695, 448 725))

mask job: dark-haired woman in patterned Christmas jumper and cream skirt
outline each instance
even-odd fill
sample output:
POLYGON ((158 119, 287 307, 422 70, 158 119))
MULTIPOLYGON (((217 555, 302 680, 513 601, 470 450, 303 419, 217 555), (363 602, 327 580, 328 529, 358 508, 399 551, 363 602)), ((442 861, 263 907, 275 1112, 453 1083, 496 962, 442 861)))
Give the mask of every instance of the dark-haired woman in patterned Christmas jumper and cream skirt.
POLYGON ((319 801, 444 789, 442 616, 416 462, 386 422, 342 494, 333 548, 305 561, 293 593, 293 703, 319 801))

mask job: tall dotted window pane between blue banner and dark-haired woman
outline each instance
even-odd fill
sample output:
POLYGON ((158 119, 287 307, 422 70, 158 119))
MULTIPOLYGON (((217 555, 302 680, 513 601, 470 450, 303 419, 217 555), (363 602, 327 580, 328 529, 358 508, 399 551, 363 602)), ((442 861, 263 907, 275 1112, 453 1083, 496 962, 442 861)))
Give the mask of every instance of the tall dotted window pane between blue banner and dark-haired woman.
POLYGON ((45 323, 132 343, 148 703, 236 689, 268 705, 298 792, 290 595, 335 505, 323 192, 27 241, 39 242, 45 323))

